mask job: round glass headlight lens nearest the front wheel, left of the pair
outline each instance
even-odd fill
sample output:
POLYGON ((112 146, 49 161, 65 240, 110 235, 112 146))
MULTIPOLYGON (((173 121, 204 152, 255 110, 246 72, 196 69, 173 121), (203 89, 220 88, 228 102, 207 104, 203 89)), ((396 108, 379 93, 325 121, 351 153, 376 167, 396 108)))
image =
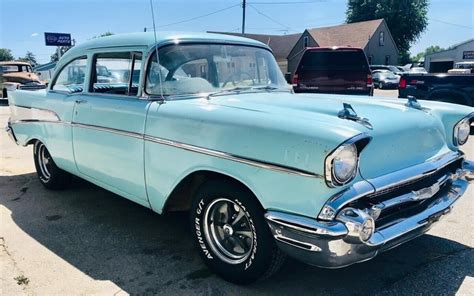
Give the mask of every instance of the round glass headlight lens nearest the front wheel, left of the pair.
POLYGON ((354 144, 345 144, 334 151, 332 174, 339 184, 351 181, 357 171, 357 148, 354 144))

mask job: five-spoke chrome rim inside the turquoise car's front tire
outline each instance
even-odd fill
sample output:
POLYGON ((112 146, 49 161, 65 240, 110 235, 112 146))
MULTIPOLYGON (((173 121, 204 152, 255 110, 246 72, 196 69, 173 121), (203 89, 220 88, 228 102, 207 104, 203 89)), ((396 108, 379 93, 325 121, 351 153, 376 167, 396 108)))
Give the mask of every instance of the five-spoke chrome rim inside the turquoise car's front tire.
POLYGON ((220 198, 206 208, 204 235, 224 262, 239 264, 252 253, 254 229, 248 213, 236 202, 220 198))

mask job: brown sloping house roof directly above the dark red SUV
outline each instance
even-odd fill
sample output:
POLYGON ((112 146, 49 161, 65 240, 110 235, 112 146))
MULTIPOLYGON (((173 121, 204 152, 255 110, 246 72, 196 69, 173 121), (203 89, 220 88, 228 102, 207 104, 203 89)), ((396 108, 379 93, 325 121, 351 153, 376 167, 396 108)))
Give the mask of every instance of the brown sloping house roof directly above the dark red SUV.
POLYGON ((309 34, 321 47, 351 46, 364 48, 383 19, 343 24, 332 27, 308 29, 309 34))

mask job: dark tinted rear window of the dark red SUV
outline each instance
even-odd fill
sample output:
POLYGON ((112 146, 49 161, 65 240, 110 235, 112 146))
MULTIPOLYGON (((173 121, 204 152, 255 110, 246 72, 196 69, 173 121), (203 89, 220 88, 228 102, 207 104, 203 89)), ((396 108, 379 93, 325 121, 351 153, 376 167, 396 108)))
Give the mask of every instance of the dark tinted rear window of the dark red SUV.
POLYGON ((367 59, 359 50, 307 51, 301 59, 300 71, 368 71, 367 59))

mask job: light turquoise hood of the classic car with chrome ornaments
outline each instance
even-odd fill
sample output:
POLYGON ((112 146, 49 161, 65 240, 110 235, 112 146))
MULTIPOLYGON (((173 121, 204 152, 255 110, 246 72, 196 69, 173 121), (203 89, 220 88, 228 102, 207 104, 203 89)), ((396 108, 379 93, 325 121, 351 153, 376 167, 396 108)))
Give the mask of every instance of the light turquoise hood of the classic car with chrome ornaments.
MULTIPOLYGON (((328 139, 333 141, 322 151, 324 158, 344 140, 366 133, 372 141, 361 154, 360 173, 367 179, 445 153, 449 151, 447 140, 452 138, 452 135, 446 135, 446 128, 436 113, 407 107, 404 99, 274 92, 213 96, 210 104, 276 116, 282 125, 290 126, 292 121, 305 122, 305 134, 311 135, 316 143, 318 139, 326 143, 328 139), (367 118, 372 128, 339 118, 343 103, 350 104, 358 116, 367 118), (338 134, 338 137, 333 138, 331 134, 338 134)), ((456 116, 461 119, 463 113, 456 116)), ((317 173, 323 172, 324 161, 320 161, 317 173)))

